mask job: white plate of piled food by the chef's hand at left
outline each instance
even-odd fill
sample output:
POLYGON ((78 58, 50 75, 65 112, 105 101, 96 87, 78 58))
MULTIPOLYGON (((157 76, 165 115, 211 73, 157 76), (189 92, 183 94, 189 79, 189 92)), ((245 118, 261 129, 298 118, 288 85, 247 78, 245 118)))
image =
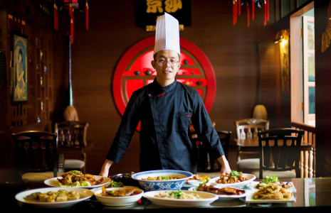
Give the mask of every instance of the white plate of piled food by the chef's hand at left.
POLYGON ((106 185, 110 178, 98 175, 83 174, 78 170, 71 170, 60 177, 45 180, 44 183, 51 187, 83 187, 95 188, 106 185))

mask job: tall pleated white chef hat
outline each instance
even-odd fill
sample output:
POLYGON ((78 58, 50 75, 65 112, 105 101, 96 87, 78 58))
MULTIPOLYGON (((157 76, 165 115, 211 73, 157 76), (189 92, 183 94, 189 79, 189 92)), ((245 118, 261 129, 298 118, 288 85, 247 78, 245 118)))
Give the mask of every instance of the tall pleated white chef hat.
POLYGON ((157 18, 154 54, 159 50, 174 50, 180 55, 179 22, 168 13, 157 18))

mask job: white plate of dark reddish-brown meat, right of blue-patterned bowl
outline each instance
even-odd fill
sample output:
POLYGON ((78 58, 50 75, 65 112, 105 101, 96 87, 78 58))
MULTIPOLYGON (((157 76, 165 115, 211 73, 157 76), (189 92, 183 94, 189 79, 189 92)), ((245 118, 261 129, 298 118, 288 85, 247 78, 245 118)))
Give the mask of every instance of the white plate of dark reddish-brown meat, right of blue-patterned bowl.
POLYGON ((199 185, 199 187, 191 187, 189 191, 209 192, 219 196, 219 200, 234 200, 241 197, 246 197, 246 190, 241 190, 236 187, 214 187, 212 185, 199 185))

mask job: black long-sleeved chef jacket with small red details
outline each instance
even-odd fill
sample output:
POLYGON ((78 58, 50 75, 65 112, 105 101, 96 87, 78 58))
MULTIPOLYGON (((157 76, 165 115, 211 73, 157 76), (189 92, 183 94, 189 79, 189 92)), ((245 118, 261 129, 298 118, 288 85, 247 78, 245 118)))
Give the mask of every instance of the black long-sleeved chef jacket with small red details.
POLYGON ((197 147, 189 140, 190 121, 211 158, 224 155, 199 93, 177 80, 162 87, 155 78, 132 93, 108 160, 120 163, 139 121, 140 171, 172 169, 196 174, 197 147))

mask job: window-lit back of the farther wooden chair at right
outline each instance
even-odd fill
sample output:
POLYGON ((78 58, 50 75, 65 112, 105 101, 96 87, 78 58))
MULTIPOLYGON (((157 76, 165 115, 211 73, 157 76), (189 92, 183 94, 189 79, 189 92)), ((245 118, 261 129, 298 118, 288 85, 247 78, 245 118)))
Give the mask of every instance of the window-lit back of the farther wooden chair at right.
POLYGON ((258 131, 269 129, 270 121, 264 119, 242 119, 234 121, 238 139, 258 138, 258 131))

